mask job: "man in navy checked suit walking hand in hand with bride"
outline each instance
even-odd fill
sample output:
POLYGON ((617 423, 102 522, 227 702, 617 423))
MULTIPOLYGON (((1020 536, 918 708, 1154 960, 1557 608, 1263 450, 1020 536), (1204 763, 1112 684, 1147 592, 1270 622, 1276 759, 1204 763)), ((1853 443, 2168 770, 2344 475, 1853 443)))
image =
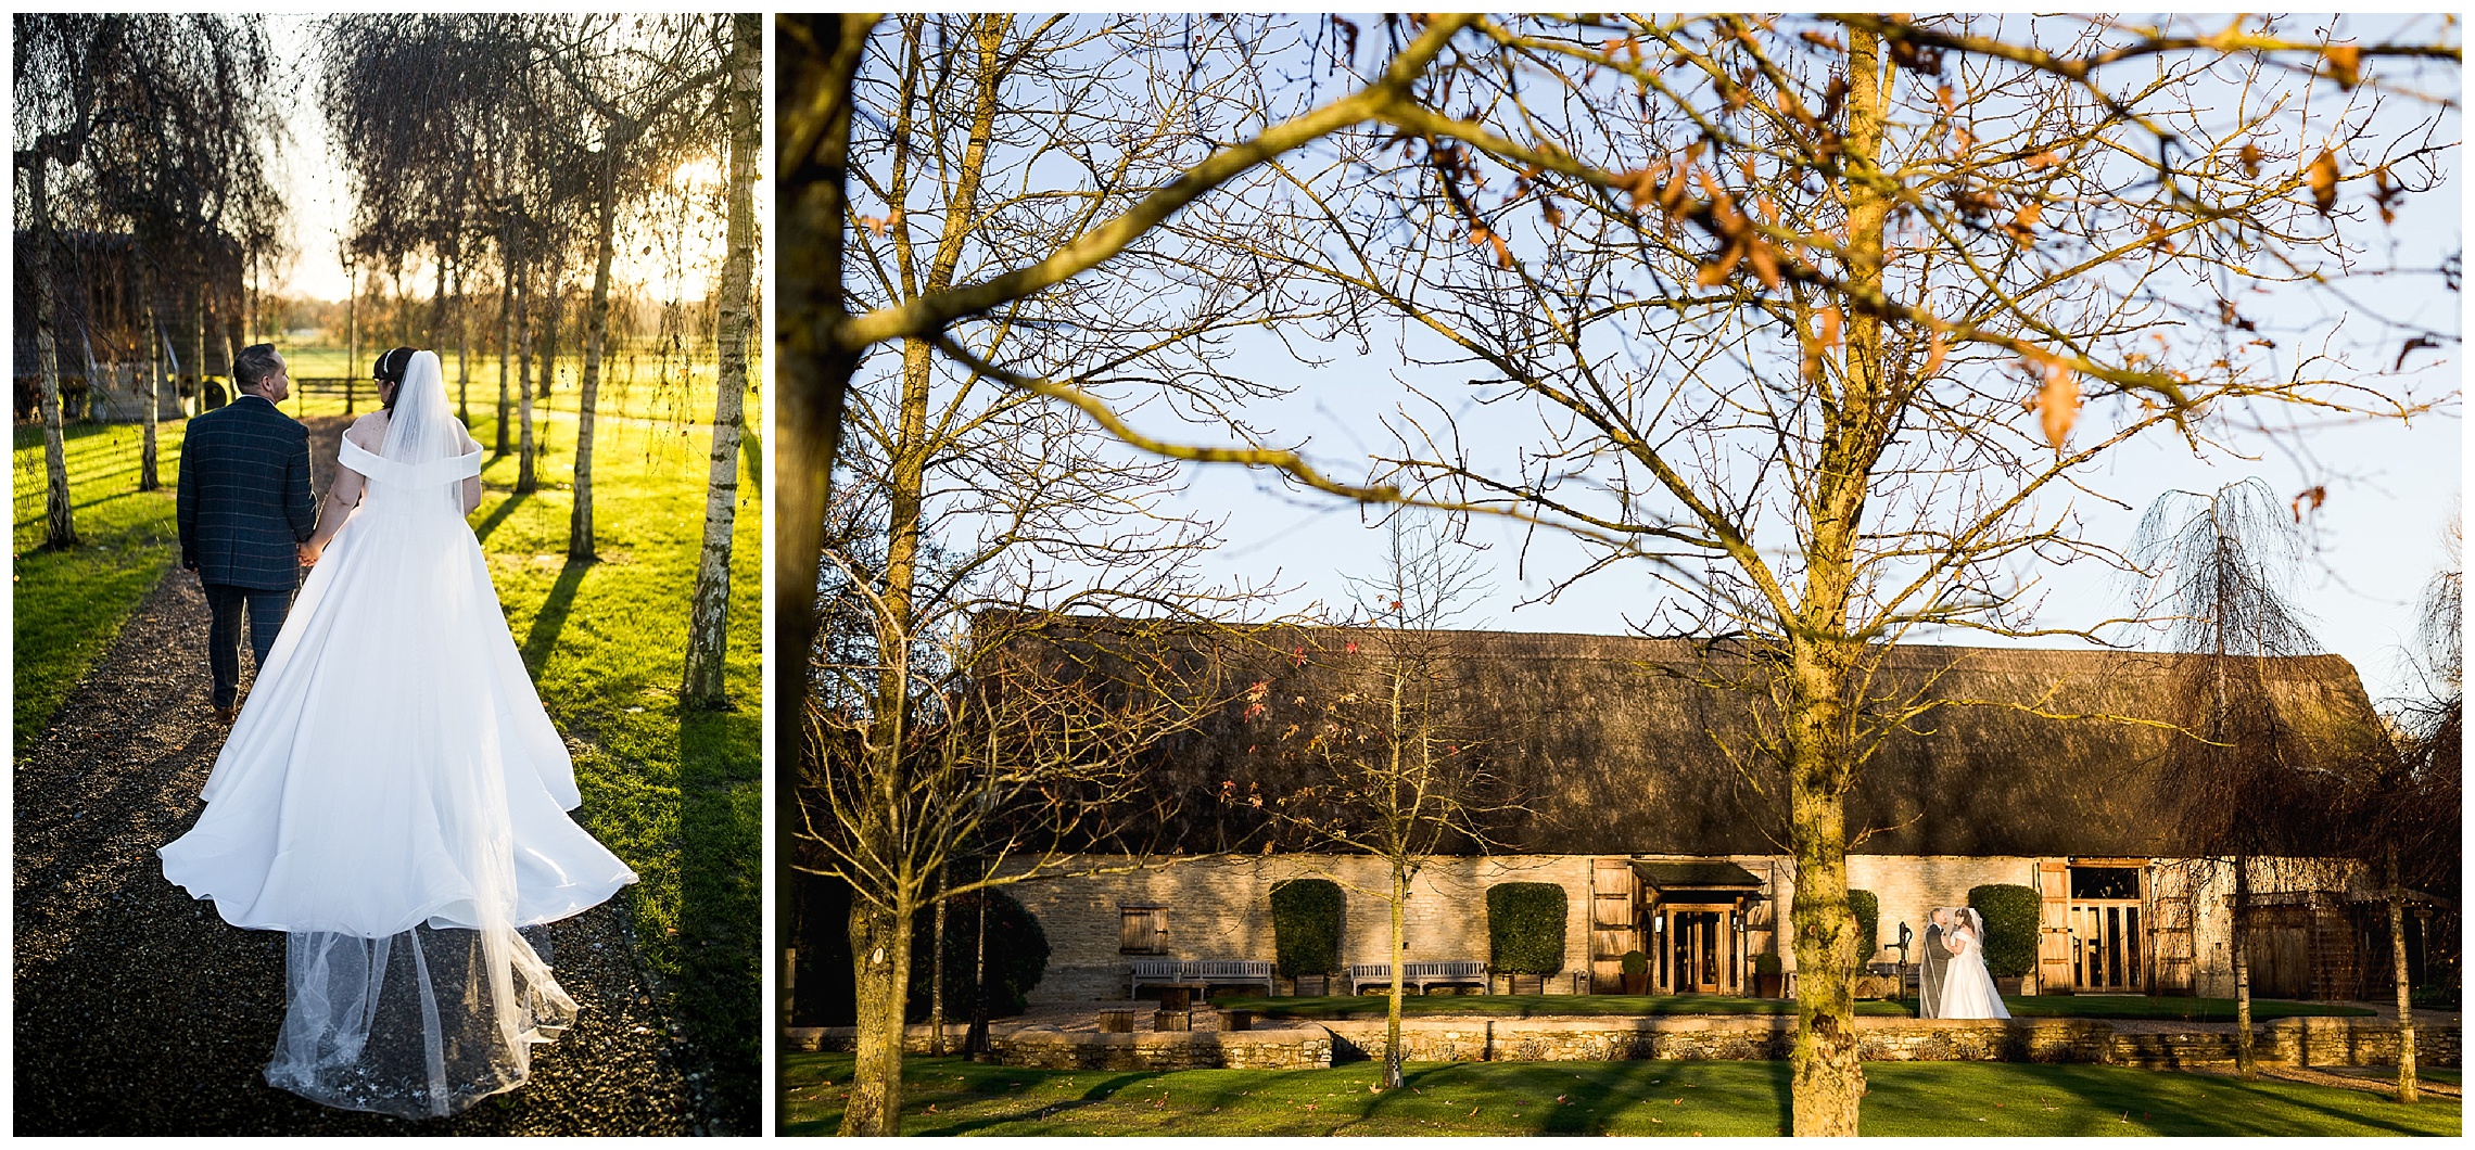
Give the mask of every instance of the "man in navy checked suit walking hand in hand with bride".
POLYGON ((240 398, 188 420, 181 443, 181 566, 198 571, 215 618, 205 663, 215 720, 233 722, 240 692, 240 618, 267 668, 302 581, 299 544, 317 529, 309 495, 309 428, 275 408, 292 393, 275 344, 233 356, 240 398))

